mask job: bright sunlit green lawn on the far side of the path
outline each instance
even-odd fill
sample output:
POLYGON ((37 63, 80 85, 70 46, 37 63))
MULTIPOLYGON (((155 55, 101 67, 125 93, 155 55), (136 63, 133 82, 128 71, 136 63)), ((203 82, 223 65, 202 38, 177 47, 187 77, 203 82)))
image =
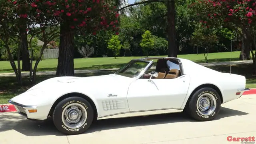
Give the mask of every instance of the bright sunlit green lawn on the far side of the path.
MULTIPOLYGON (((239 60, 240 52, 220 52, 208 54, 208 62, 226 62, 230 61, 232 55, 232 61, 239 60)), ((152 56, 161 57, 161 56, 152 56)), ((164 56, 166 57, 166 56, 164 56)), ((75 70, 84 69, 106 69, 106 68, 120 68, 126 62, 134 58, 143 57, 113 57, 108 58, 77 58, 74 59, 75 70)), ((178 58, 186 58, 197 63, 204 63, 204 54, 184 54, 178 55, 178 58)), ((37 71, 56 71, 58 59, 46 59, 40 61, 37 71)), ((16 62, 17 65, 17 62, 16 62)), ((22 65, 22 63, 21 63, 22 65)), ((34 62, 33 62, 34 66, 34 62)), ((9 61, 0 61, 0 73, 13 72, 9 61)))

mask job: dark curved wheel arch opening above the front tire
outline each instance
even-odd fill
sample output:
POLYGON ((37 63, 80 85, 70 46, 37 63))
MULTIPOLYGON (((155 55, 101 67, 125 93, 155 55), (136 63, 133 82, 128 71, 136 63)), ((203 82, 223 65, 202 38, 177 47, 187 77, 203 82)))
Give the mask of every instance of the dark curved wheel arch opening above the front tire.
POLYGON ((92 105, 92 108, 94 110, 94 116, 97 118, 98 117, 98 111, 97 111, 97 108, 96 108, 96 105, 94 104, 93 100, 89 97, 89 96, 86 96, 85 94, 82 94, 82 93, 79 93, 79 92, 71 92, 71 93, 68 93, 68 94, 64 94, 62 96, 60 96, 60 98, 58 98, 53 104, 52 104, 52 107, 48 113, 48 116, 52 116, 52 113, 54 111, 54 108, 56 107, 56 105, 64 100, 65 98, 68 98, 68 97, 71 97, 71 96, 78 96, 80 98, 84 98, 86 100, 88 100, 88 102, 92 105))

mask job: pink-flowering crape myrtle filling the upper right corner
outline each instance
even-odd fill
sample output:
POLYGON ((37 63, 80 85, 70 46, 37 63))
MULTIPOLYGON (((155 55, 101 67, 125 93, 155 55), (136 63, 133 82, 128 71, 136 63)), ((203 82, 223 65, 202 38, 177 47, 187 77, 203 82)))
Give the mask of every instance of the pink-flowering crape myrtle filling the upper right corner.
POLYGON ((195 10, 202 26, 205 28, 223 26, 236 30, 245 41, 244 44, 247 45, 244 49, 242 48, 240 57, 248 59, 246 57, 250 58, 251 52, 256 68, 256 54, 252 49, 253 47, 256 49, 255 0, 196 0, 190 7, 195 10))

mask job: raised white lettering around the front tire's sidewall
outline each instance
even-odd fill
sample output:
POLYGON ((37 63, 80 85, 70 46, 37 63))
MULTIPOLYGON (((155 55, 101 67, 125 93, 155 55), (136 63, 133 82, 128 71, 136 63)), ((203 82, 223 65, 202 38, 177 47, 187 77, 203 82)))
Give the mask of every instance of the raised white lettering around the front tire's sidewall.
MULTIPOLYGON (((81 100, 69 100, 68 102, 66 102, 65 104, 62 105, 62 110, 64 110, 64 108, 66 108, 66 106, 68 106, 69 104, 72 104, 72 103, 77 103, 77 104, 81 104, 82 106, 84 106, 84 108, 86 109, 86 112, 88 112, 88 108, 89 106, 86 104, 86 102, 82 102, 81 100)), ((88 120, 88 119, 87 119, 88 120)), ((84 129, 87 127, 88 123, 87 123, 87 120, 86 122, 84 123, 84 125, 82 125, 81 127, 79 128, 75 128, 75 129, 72 129, 72 128, 68 128, 67 126, 65 126, 65 124, 62 122, 62 125, 61 127, 66 130, 66 131, 69 131, 69 132, 78 132, 79 130, 81 129, 84 129)))

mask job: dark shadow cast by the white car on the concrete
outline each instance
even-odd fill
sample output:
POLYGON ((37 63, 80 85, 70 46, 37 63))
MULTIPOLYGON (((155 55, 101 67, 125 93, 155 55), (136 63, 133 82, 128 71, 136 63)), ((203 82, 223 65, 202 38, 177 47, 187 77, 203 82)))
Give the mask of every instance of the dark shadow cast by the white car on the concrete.
MULTIPOLYGON (((220 120, 230 116, 242 116, 248 113, 241 112, 238 110, 232 110, 229 108, 221 107, 220 113, 214 120, 220 120)), ((116 128, 126 128, 135 126, 149 126, 156 124, 167 124, 176 122, 199 122, 193 120, 185 112, 173 113, 173 114, 160 114, 153 116, 138 116, 130 118, 116 118, 97 120, 87 130, 86 133, 99 132, 102 130, 111 130, 116 128)), ((26 136, 45 136, 45 135, 56 135, 63 136, 54 126, 51 119, 45 120, 44 122, 34 122, 27 120, 26 118, 19 115, 2 114, 0 115, 0 132, 7 130, 15 130, 26 136)))

